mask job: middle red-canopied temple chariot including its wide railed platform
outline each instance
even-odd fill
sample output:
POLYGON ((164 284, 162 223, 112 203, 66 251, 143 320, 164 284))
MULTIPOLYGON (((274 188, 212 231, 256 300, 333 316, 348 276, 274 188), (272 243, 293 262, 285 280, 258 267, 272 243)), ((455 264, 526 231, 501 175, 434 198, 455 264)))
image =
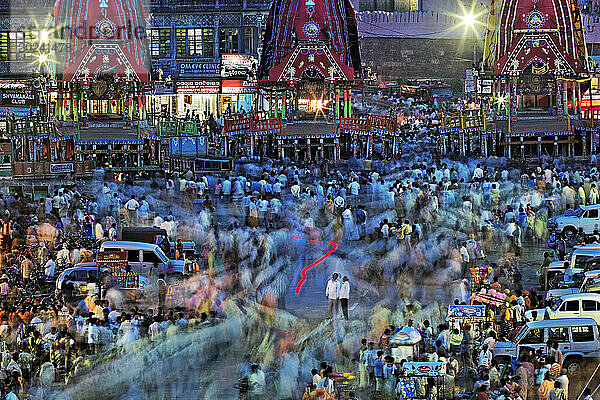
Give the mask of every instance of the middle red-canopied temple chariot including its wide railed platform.
POLYGON ((364 81, 349 0, 275 0, 266 27, 257 104, 225 120, 227 154, 311 162, 397 149, 395 120, 353 116, 364 81))

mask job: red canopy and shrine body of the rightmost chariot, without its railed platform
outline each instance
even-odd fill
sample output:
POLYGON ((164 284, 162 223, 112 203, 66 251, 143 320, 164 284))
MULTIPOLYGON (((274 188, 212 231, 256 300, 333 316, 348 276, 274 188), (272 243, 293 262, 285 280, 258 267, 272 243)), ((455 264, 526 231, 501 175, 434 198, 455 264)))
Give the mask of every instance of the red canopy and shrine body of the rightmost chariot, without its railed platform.
POLYGON ((484 69, 510 114, 553 109, 576 114, 588 55, 576 0, 503 0, 490 7, 484 69), (571 107, 568 107, 571 104, 571 107))

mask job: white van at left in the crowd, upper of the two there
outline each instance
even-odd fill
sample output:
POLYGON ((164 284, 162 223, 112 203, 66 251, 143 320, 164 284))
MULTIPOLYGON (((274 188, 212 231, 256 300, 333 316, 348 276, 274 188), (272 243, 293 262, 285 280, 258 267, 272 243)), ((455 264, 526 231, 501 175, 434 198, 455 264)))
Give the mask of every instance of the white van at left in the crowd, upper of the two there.
POLYGON ((132 272, 147 276, 151 273, 158 275, 184 274, 183 260, 169 260, 165 252, 157 245, 141 242, 108 241, 102 243, 100 251, 127 252, 127 261, 132 272))

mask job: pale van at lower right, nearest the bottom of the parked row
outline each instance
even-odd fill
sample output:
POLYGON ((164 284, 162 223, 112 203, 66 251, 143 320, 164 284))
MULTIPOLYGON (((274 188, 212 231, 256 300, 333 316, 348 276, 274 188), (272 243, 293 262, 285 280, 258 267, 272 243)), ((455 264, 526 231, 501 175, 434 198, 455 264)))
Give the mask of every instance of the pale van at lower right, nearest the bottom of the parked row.
POLYGON ((494 358, 503 361, 516 359, 523 348, 540 349, 547 354, 548 342, 558 342, 563 353, 563 366, 569 375, 579 375, 586 359, 600 357, 596 321, 591 318, 561 318, 526 323, 514 341, 496 342, 494 358))

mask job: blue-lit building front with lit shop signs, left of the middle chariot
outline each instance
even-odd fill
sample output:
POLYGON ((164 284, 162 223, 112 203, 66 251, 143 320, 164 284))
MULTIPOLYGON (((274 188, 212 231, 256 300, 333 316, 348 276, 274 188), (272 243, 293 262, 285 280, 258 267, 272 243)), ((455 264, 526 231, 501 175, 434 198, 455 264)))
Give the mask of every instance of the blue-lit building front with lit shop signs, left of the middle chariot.
POLYGON ((154 110, 250 111, 268 0, 149 0, 154 110))

